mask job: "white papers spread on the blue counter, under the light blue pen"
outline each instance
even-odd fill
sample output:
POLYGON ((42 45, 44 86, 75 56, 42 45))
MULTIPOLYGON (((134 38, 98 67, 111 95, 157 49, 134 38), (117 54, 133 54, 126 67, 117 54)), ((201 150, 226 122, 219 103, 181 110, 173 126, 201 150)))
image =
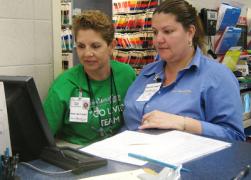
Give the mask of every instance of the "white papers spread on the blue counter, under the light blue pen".
POLYGON ((176 130, 159 135, 124 131, 82 148, 81 151, 135 165, 147 162, 128 157, 128 153, 178 165, 230 146, 228 142, 176 130))

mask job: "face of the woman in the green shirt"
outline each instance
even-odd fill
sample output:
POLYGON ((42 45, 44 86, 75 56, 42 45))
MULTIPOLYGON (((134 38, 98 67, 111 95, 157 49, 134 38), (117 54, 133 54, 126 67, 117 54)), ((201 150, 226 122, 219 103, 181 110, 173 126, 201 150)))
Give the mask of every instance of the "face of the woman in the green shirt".
POLYGON ((113 43, 108 45, 99 32, 92 29, 79 30, 76 36, 76 48, 85 71, 97 72, 109 68, 113 43))

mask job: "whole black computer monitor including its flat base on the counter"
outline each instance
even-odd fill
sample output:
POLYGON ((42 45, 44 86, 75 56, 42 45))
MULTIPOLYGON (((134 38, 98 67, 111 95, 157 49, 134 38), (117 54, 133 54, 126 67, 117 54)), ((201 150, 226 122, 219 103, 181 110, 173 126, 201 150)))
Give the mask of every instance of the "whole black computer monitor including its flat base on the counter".
POLYGON ((56 146, 32 77, 0 76, 0 81, 4 84, 12 153, 18 153, 21 161, 41 158, 76 173, 107 163, 79 150, 56 146))

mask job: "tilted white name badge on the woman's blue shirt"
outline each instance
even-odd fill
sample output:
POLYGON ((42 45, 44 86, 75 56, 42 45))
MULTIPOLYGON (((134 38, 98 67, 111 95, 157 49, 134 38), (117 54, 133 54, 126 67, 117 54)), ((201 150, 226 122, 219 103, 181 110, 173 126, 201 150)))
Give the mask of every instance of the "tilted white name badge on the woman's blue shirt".
POLYGON ((137 101, 148 101, 160 88, 161 83, 147 84, 144 92, 138 97, 137 101))

